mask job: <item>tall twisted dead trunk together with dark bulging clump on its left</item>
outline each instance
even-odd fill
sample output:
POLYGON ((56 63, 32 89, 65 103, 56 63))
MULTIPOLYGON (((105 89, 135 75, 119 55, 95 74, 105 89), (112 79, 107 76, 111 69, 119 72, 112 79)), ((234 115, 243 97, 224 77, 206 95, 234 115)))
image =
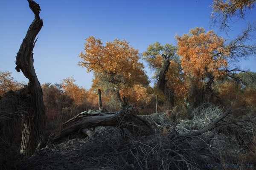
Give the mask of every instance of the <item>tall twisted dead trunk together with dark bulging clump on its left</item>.
MULTIPOLYGON (((33 48, 37 34, 43 26, 43 20, 39 17, 40 6, 33 0, 28 0, 29 8, 35 14, 35 20, 31 23, 20 49, 16 56, 16 71, 23 72, 29 79, 28 85, 15 92, 9 91, 0 101, 0 111, 17 113, 23 129, 20 153, 30 157, 35 152, 46 125, 45 107, 43 103, 43 92, 34 69, 33 48)), ((15 138, 15 136, 13 136, 15 138)))

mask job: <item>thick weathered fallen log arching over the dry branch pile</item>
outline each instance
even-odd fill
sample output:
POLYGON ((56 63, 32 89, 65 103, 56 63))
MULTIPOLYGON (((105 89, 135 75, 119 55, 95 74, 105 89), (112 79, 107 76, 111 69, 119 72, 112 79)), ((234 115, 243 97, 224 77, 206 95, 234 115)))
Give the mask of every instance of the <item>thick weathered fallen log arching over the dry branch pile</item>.
POLYGON ((128 129, 134 136, 150 136, 153 134, 151 125, 143 118, 137 116, 131 105, 125 105, 118 112, 110 112, 105 108, 89 110, 79 113, 65 122, 60 134, 52 139, 51 143, 57 142, 62 137, 79 132, 90 133, 87 129, 99 126, 113 126, 128 129))

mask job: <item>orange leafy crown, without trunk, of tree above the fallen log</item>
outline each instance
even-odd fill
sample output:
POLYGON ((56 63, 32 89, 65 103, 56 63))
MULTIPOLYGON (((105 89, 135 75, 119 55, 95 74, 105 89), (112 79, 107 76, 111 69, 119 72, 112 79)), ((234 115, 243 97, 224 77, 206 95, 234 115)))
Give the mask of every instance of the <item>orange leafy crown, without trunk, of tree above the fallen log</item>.
POLYGON ((95 37, 85 40, 85 53, 79 54, 83 61, 79 61, 78 65, 86 67, 87 72, 94 71, 108 76, 119 74, 124 79, 134 79, 137 75, 144 74, 144 65, 138 62, 138 49, 131 47, 126 40, 107 41, 105 46, 95 37))

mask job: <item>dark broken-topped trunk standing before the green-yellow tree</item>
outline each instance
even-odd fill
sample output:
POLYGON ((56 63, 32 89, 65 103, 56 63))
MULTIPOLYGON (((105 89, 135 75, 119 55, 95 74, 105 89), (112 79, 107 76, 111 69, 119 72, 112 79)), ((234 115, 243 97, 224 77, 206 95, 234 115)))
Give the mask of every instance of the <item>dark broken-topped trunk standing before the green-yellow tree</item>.
POLYGON ((170 56, 162 54, 163 57, 163 68, 158 74, 157 84, 159 88, 163 91, 163 94, 167 100, 167 105, 169 109, 174 107, 174 94, 171 92, 170 88, 166 84, 166 73, 170 65, 170 56))

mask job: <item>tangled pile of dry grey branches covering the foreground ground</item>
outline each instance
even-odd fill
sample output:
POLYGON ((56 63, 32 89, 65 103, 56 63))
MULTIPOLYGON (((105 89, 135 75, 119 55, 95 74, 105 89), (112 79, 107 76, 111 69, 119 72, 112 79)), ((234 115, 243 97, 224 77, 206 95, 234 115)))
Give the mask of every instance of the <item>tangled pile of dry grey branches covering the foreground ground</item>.
POLYGON ((134 135, 121 124, 94 131, 81 128, 19 164, 25 169, 46 170, 202 170, 209 169, 205 164, 256 164, 255 112, 237 113, 241 110, 223 111, 208 104, 196 108, 193 119, 179 123, 171 122, 164 113, 139 116, 151 125, 154 133, 150 136, 134 135))

